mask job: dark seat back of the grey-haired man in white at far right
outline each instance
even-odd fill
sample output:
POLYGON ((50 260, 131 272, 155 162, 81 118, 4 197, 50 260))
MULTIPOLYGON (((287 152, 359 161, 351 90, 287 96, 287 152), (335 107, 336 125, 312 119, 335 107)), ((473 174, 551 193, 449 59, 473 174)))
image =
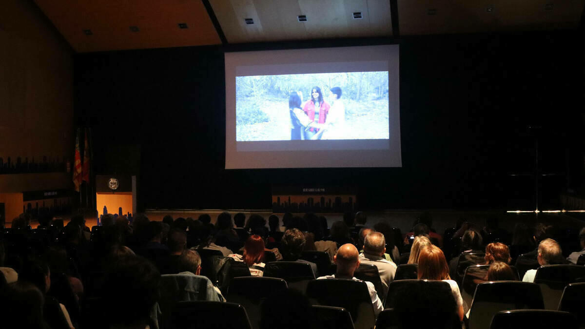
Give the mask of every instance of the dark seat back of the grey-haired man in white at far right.
POLYGON ((565 286, 580 280, 585 280, 585 266, 544 265, 536 270, 534 277, 534 283, 541 286, 547 310, 558 309, 565 286))

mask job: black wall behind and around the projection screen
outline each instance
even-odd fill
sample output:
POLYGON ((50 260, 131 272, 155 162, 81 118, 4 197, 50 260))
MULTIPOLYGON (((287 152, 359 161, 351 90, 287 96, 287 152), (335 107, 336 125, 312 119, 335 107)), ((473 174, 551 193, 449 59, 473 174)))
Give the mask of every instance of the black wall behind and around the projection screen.
POLYGON ((223 169, 221 47, 78 55, 77 120, 94 128, 96 173, 139 174, 139 207, 146 208, 269 208, 272 184, 298 182, 355 186, 369 209, 532 207, 534 179, 509 174, 536 167, 559 175, 541 180, 541 204, 553 207, 561 190, 580 186, 579 31, 413 37, 400 44, 402 168, 223 169))

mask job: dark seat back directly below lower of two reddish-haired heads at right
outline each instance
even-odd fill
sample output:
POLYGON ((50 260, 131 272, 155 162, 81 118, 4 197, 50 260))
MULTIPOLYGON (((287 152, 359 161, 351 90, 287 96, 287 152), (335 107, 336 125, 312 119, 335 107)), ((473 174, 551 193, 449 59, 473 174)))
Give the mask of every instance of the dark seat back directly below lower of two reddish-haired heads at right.
POLYGON ((491 318, 499 311, 542 310, 541 288, 536 283, 519 281, 490 281, 477 285, 469 314, 469 328, 487 329, 491 318))

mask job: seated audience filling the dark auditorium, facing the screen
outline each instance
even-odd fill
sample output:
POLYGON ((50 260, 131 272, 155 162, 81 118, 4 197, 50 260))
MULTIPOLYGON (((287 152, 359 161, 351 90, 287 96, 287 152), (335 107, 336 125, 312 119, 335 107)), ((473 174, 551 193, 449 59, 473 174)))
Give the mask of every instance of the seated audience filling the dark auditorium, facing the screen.
MULTIPOLYGON (((155 304, 159 298, 157 291, 160 287, 160 273, 199 277, 201 275, 201 257, 197 251, 188 247, 219 250, 223 256, 245 263, 252 276, 262 276, 264 255, 268 250, 265 243, 278 241, 280 236, 282 256, 278 249, 271 249, 277 259, 309 263, 318 279, 357 280, 354 273, 360 263, 375 265, 382 283, 380 296, 386 296, 397 269, 396 263, 391 261, 393 258, 386 253, 387 248, 397 251, 394 243, 390 241, 394 239, 393 228, 387 222, 374 225, 376 230, 366 228, 364 226, 366 216, 363 213, 355 215, 348 213, 346 217, 346 220, 353 221, 352 230, 359 229, 359 234, 354 236, 358 248, 350 236, 350 229, 343 221, 333 223, 331 235, 326 238, 329 241, 325 241, 323 237, 327 229, 326 220, 315 214, 307 213, 304 217, 285 214, 283 224, 290 229, 279 232, 280 221, 276 215, 269 217, 269 230, 266 227, 266 220, 260 215, 250 215, 245 222, 246 215, 238 213, 233 217, 236 224, 234 228, 230 214, 222 213, 215 225, 211 224, 211 217, 207 214, 199 216, 198 220, 177 218, 173 221, 172 217, 166 216, 163 222, 149 221, 146 216, 137 215, 133 224, 123 216, 114 218, 112 215, 104 215, 102 229, 97 235, 92 236, 95 241, 89 241, 85 220, 81 215, 77 215, 62 229, 59 228, 59 222, 54 221, 48 229, 54 230, 56 234, 51 237, 50 243, 45 242, 49 245, 37 249, 36 246, 26 248, 26 243, 30 243, 27 237, 32 235, 30 217, 20 215, 13 222, 13 232, 16 234, 15 237, 24 238, 17 242, 24 243, 25 248, 21 248, 22 251, 15 249, 13 244, 16 242, 0 235, 2 327, 43 329, 77 327, 79 319, 77 314, 80 310, 78 303, 84 302, 86 294, 88 297, 101 297, 103 306, 108 310, 103 314, 110 328, 157 327, 155 304), (170 228, 168 225, 172 227, 168 234, 165 234, 165 229, 170 228), (241 228, 242 226, 246 228, 241 228), (240 232, 236 232, 238 230, 245 234, 240 235, 240 232), (164 238, 165 235, 167 239, 164 238), (60 239, 57 240, 57 237, 60 239), (221 244, 232 248, 226 248, 221 244), (236 248, 238 244, 243 248, 236 248), (341 245, 339 249, 338 245, 341 245), (358 252, 360 247, 363 250, 358 252), (5 248, 12 248, 10 251, 18 251, 20 254, 12 255, 5 248), (239 253, 234 252, 238 249, 239 253), (304 250, 328 252, 337 265, 335 275, 319 276, 315 263, 300 259, 304 250), (7 252, 11 258, 6 257, 7 252), (144 258, 136 256, 135 252, 144 258), (42 255, 43 262, 30 260, 30 256, 35 254, 42 255), (56 293, 60 278, 64 278, 67 287, 75 293, 73 307, 67 303, 64 295, 56 293), (84 289, 85 285, 92 289, 84 289)), ((49 220, 50 217, 43 217, 39 222, 40 227, 48 227, 49 220)), ((408 255, 408 263, 418 263, 419 279, 447 282, 449 288, 445 286, 445 289, 450 291, 449 297, 453 298, 445 299, 445 294, 439 292, 440 289, 433 290, 438 287, 425 286, 424 282, 421 282, 421 287, 425 287, 424 291, 398 292, 397 296, 401 297, 398 299, 400 303, 395 306, 395 312, 400 328, 412 326, 412 321, 415 321, 415 326, 421 326, 425 323, 426 317, 432 317, 435 321, 429 323, 428 327, 441 327, 443 324, 445 327, 451 327, 450 318, 461 320, 463 317, 459 287, 451 279, 453 275, 449 275, 445 255, 438 246, 432 244, 430 239, 432 236, 428 235, 433 233, 429 229, 431 225, 432 220, 426 215, 419 218, 412 231, 414 240, 407 239, 411 244, 411 251, 403 256, 408 255), (421 313, 425 314, 425 319, 412 320, 421 313)), ((501 242, 505 241, 507 235, 498 228, 497 221, 488 220, 486 227, 479 229, 481 234, 478 228, 471 224, 462 225, 459 235, 462 237, 460 248, 462 253, 485 251, 484 264, 490 266, 487 274, 481 272, 477 276, 479 281, 517 280, 515 270, 509 265, 512 257, 522 248, 534 248, 535 242, 538 242, 538 248, 518 258, 518 263, 523 266, 532 266, 522 276, 525 282, 534 282, 538 266, 567 261, 576 263, 577 258, 585 253, 585 228, 579 232, 581 251, 570 253, 566 259, 562 255, 559 243, 552 239, 555 237, 555 227, 551 225, 536 225, 533 235, 526 225, 517 224, 510 248, 501 242), (482 234, 486 239, 482 239, 482 234), (482 240, 493 242, 483 248, 482 240), (536 265, 529 264, 533 256, 536 265)), ((566 242, 561 241, 563 246, 566 242)), ((225 258, 222 260, 225 261, 225 258)), ((233 265, 233 262, 230 263, 233 265)), ((208 282, 207 279, 205 281, 208 282)), ((373 284, 366 282, 366 285, 375 313, 378 314, 383 308, 381 301, 373 284)), ((209 283, 207 288, 213 293, 209 295, 213 296, 212 300, 225 301, 217 287, 209 283)), ((262 304, 262 311, 261 327, 311 326, 312 312, 308 301, 304 296, 291 290, 269 297, 262 304)))

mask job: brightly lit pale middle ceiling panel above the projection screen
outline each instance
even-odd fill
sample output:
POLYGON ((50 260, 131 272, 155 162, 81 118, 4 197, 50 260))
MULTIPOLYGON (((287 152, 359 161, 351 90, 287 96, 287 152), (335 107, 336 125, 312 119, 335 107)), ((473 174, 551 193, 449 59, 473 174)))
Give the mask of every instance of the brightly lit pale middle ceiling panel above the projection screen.
POLYGON ((210 0, 210 3, 229 43, 392 35, 389 1, 210 0), (354 12, 362 12, 363 18, 353 19, 354 12), (307 22, 299 22, 298 15, 306 15, 307 22), (246 25, 245 18, 254 19, 254 24, 246 25))

